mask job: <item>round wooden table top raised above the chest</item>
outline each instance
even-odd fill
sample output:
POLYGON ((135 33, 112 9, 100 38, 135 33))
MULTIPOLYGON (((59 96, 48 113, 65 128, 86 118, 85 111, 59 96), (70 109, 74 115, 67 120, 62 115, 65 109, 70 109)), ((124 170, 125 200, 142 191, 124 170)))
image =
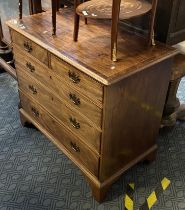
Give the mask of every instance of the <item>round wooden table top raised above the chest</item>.
MULTIPOLYGON (((129 19, 147 13, 152 5, 146 0, 123 0, 120 5, 120 19, 129 19)), ((90 0, 80 4, 77 14, 95 19, 112 19, 112 0, 90 0)))

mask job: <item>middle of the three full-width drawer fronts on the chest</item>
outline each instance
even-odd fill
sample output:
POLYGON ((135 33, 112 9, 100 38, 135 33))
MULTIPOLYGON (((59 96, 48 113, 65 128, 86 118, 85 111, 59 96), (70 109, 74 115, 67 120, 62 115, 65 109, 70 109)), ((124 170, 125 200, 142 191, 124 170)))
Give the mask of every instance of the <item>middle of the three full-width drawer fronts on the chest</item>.
POLYGON ((87 119, 26 74, 18 74, 18 81, 20 90, 29 94, 86 144, 99 152, 101 132, 94 128, 87 119))

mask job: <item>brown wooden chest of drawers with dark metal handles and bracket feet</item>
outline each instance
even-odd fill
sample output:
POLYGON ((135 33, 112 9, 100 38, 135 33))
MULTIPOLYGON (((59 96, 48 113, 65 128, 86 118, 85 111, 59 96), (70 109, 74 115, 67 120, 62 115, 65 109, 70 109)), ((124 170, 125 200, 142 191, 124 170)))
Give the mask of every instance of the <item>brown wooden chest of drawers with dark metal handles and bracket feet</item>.
POLYGON ((34 124, 84 173, 97 201, 128 168, 155 157, 171 73, 172 48, 146 49, 124 34, 117 63, 110 60, 108 22, 89 21, 72 41, 71 11, 11 20, 22 124, 34 124), (89 32, 91 31, 91 33, 89 32), (96 33, 98 31, 98 34, 96 33), (81 40, 81 41, 80 41, 81 40))

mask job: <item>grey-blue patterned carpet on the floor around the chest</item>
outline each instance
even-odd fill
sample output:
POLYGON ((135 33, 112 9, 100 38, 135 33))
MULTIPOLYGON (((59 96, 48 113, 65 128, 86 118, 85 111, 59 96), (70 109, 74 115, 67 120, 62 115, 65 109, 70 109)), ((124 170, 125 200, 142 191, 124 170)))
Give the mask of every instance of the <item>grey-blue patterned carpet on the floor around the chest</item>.
MULTIPOLYGON (((185 81, 179 94, 184 100, 185 81)), ((160 132, 157 160, 127 171, 98 204, 79 169, 36 129, 21 126, 17 84, 0 74, 0 210, 121 210, 135 182, 138 208, 166 176, 170 187, 152 209, 185 209, 185 123, 160 132)))

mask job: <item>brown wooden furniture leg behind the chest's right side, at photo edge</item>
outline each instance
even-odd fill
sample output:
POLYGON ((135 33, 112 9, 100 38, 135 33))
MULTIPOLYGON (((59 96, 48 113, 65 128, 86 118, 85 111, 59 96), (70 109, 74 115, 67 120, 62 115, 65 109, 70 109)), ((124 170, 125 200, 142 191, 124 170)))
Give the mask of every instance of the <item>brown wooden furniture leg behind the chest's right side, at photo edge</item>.
POLYGON ((185 55, 178 54, 174 59, 161 127, 174 126, 176 120, 185 120, 185 104, 180 105, 176 96, 183 76, 185 76, 185 55))

